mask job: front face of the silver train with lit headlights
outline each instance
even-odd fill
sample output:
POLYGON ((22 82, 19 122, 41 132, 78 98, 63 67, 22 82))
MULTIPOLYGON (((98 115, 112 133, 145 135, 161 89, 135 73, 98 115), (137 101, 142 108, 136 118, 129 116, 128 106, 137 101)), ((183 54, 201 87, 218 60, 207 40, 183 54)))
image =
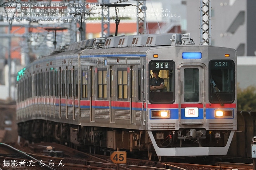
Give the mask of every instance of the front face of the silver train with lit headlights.
POLYGON ((237 129, 236 51, 176 45, 150 49, 147 61, 149 158, 226 155, 237 129))

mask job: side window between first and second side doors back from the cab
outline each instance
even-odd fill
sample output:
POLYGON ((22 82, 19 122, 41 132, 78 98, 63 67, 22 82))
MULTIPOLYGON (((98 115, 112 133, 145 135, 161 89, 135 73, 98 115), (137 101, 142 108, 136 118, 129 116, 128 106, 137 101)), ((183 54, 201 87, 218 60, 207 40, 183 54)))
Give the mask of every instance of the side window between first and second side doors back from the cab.
POLYGON ((127 70, 118 70, 118 99, 127 99, 127 70))

